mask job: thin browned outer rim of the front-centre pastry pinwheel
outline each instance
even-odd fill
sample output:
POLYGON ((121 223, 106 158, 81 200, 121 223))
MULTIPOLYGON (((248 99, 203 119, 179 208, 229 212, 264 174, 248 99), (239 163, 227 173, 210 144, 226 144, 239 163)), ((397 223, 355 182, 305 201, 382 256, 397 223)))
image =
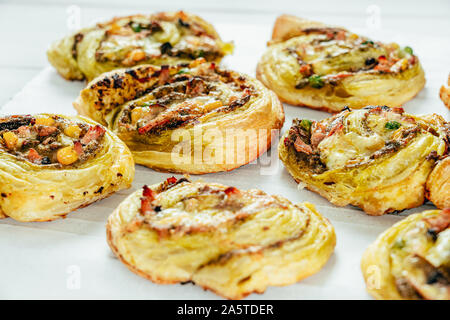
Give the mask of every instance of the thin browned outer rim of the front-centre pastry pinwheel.
MULTIPOLYGON (((167 180, 169 180, 169 179, 174 179, 174 177, 168 178, 167 180)), ((176 179, 176 178, 175 178, 175 179, 176 179)), ((156 188, 156 189, 161 188, 161 186, 164 186, 164 185, 165 185, 165 183, 167 182, 167 180, 165 180, 165 181, 162 182, 162 183, 156 184, 156 185, 152 186, 151 188, 152 188, 152 189, 153 189, 153 188, 156 188)), ((169 189, 170 189, 171 187, 173 187, 173 186, 178 185, 179 183, 182 183, 182 182, 193 183, 192 181, 189 180, 189 177, 188 177, 188 176, 185 176, 185 178, 178 179, 177 182, 173 183, 172 186, 169 187, 169 189)), ((206 184, 208 184, 208 183, 206 183, 206 184)), ((147 187, 147 186, 144 186, 144 188, 145 188, 145 187, 147 187)), ((148 187, 147 187, 147 188, 148 188, 148 187)), ((234 188, 234 187, 228 187, 228 188, 234 188)), ((166 191, 166 190, 165 190, 165 191, 166 191)), ((139 192, 139 191, 137 191, 137 192, 139 192)), ((163 191, 163 192, 164 192, 164 191, 163 191)), ((261 191, 261 192, 263 192, 263 191, 261 191)), ((265 195, 268 195, 268 194, 266 194, 265 192, 263 192, 263 193, 264 193, 265 195)), ((132 196, 132 195, 130 195, 128 198, 131 198, 131 196, 132 196)), ((270 196, 270 195, 269 195, 269 196, 270 196)), ((273 196, 273 197, 278 197, 278 196, 273 196)), ((128 198, 127 198, 127 199, 128 199, 128 198)), ((126 200, 127 200, 127 199, 126 199, 126 200)), ((287 200, 286 198, 284 198, 284 199, 287 200)), ((124 200, 124 201, 126 201, 126 200, 124 200)), ((291 203, 291 202, 289 201, 289 203, 291 203)), ((292 203, 291 203, 291 204, 292 204, 292 203)), ((292 205, 293 205, 294 207, 296 207, 298 210, 303 210, 303 209, 301 209, 297 204, 292 204, 292 205)), ((255 293, 255 294, 263 294, 263 293, 267 290, 268 287, 274 287, 274 286, 275 286, 275 287, 277 287, 277 286, 278 286, 278 287, 281 287, 281 286, 287 286, 287 285, 292 285, 292 284, 298 283, 298 282, 302 281, 303 279, 305 279, 305 278, 307 278, 307 277, 309 277, 309 276, 311 276, 311 275, 313 275, 313 274, 318 273, 318 272, 319 272, 320 270, 322 270, 323 267, 326 265, 326 263, 327 263, 328 260, 330 259, 331 255, 333 254, 334 248, 335 248, 335 246, 336 246, 336 234, 335 234, 335 231, 334 231, 334 227, 331 225, 330 221, 329 221, 325 216, 321 215, 321 214, 315 209, 314 205, 310 205, 310 206, 312 206, 312 208, 309 208, 309 207, 307 206, 307 210, 308 210, 308 211, 311 211, 311 214, 308 215, 308 225, 309 225, 309 223, 310 223, 311 216, 312 216, 312 215, 316 215, 317 218, 318 218, 322 223, 327 224, 328 227, 330 228, 329 233, 327 233, 327 234, 329 235, 329 239, 327 239, 327 240, 328 240, 328 241, 331 241, 331 242, 329 243, 329 244, 331 245, 331 247, 330 247, 331 250, 330 250, 329 254, 326 255, 326 258, 324 259, 324 261, 322 261, 322 263, 320 263, 320 264, 319 264, 318 266, 316 266, 314 269, 309 270, 308 272, 303 272, 299 277, 297 277, 297 279, 296 279, 295 281, 293 281, 293 282, 291 282, 291 283, 289 283, 289 284, 282 284, 282 285, 266 284, 266 286, 265 286, 264 288, 262 288, 262 289, 257 289, 257 288, 255 288, 254 290, 242 292, 239 296, 234 296, 234 297, 227 296, 227 295, 223 294, 222 292, 220 292, 219 290, 215 290, 214 288, 211 288, 211 287, 209 287, 209 286, 207 286, 207 285, 202 285, 202 284, 196 283, 196 282, 194 282, 192 279, 191 279, 191 280, 188 280, 188 281, 167 280, 167 279, 163 279, 163 278, 157 277, 157 276, 155 276, 155 275, 152 275, 152 274, 150 274, 150 273, 147 273, 147 272, 145 272, 145 271, 139 269, 137 266, 135 266, 135 265, 131 264, 130 262, 128 262, 127 259, 119 252, 119 249, 117 248, 117 246, 116 246, 116 244, 115 244, 115 237, 117 237, 117 236, 113 235, 113 227, 112 227, 112 222, 111 222, 111 220, 114 218, 113 216, 116 214, 117 210, 120 208, 120 205, 119 205, 119 207, 116 208, 116 210, 108 217, 107 224, 106 224, 106 239, 107 239, 107 243, 108 243, 109 247, 111 248, 111 251, 114 253, 114 255, 115 255, 115 256, 116 256, 116 257, 117 257, 117 258, 118 258, 118 259, 119 259, 119 260, 120 260, 120 261, 121 261, 121 262, 122 262, 122 263, 130 270, 130 271, 131 271, 131 272, 135 273, 135 274, 138 275, 138 276, 141 276, 141 277, 144 278, 144 279, 150 280, 150 281, 152 281, 153 283, 156 283, 156 284, 181 284, 181 285, 184 285, 184 284, 186 284, 186 283, 192 283, 192 284, 194 284, 195 286, 198 286, 198 287, 200 287, 200 288, 203 288, 204 290, 209 290, 209 291, 211 291, 211 292, 217 294, 218 296, 220 296, 220 297, 222 297, 222 298, 229 299, 229 300, 240 300, 240 299, 244 299, 245 297, 247 297, 248 295, 253 294, 253 293, 255 293)), ((135 217, 133 217, 132 219, 135 219, 135 217)), ((128 223, 130 223, 130 222, 128 222, 128 223)), ((122 231, 121 231, 121 232, 124 232, 124 231, 123 231, 123 226, 122 226, 122 231)), ((300 237, 301 237, 303 234, 304 234, 304 230, 302 230, 302 232, 300 232, 300 237)), ((273 244, 273 245, 269 245, 269 246, 267 246, 267 247, 261 248, 261 250, 271 249, 271 248, 273 248, 273 247, 280 247, 280 246, 282 246, 284 243, 287 243, 287 242, 290 242, 290 241, 294 241, 294 240, 296 240, 297 238, 298 238, 298 237, 289 238, 289 239, 287 239, 286 241, 282 241, 281 243, 280 243, 280 242, 277 242, 277 243, 275 243, 275 244, 273 244)), ((324 240, 324 242, 325 242, 325 240, 324 240)), ((236 251, 236 250, 234 250, 234 251, 236 251)), ((259 251, 258 251, 258 252, 259 252, 259 251)), ((256 254, 258 254, 258 252, 256 252, 256 254)), ((235 252, 235 253, 234 253, 234 252, 230 251, 230 252, 228 252, 228 253, 225 253, 225 254, 220 255, 217 259, 214 259, 214 260, 209 261, 207 264, 205 264, 205 266, 206 266, 206 265, 210 265, 210 264, 214 264, 214 263, 220 263, 218 260, 220 260, 221 258, 225 258, 225 259, 228 260, 229 258, 231 258, 231 256, 230 256, 230 257, 227 256, 229 253, 231 253, 232 256, 234 256, 235 254, 239 254, 238 252, 235 252), (223 257, 222 257, 222 256, 223 256, 223 257), (225 256, 226 256, 226 257, 225 257, 225 256)), ((250 253, 250 254, 254 254, 254 253, 250 253)), ((201 269, 201 268, 202 268, 202 267, 199 267, 199 269, 201 269)), ((242 281, 242 279, 241 279, 241 281, 242 281)))

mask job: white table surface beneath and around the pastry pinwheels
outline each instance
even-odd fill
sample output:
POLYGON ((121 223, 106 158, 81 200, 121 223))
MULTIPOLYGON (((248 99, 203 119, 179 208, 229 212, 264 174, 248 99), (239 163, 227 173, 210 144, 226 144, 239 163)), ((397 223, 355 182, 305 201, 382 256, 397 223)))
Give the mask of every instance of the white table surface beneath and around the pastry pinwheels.
MULTIPOLYGON (((225 63, 254 75, 273 22, 290 13, 342 25, 374 39, 411 46, 424 66, 427 85, 406 109, 411 113, 449 111, 438 99, 439 87, 450 71, 450 1, 112 1, 0 0, 0 106, 7 112, 63 110, 83 87, 58 77, 48 68, 46 48, 66 35, 69 27, 87 26, 115 15, 183 9, 212 21, 224 40, 235 40, 235 53, 225 63), (80 13, 80 15, 78 15, 80 13), (79 17, 79 21, 78 21, 79 17), (41 70, 45 69, 41 72, 41 70), (22 93, 21 90, 37 76, 22 93), (31 110, 31 111, 30 111, 31 110)), ((0 109, 1 111, 1 109, 0 109)), ((326 117, 323 112, 286 106, 286 130, 292 118, 326 117)), ((204 177, 240 188, 258 187, 292 201, 310 201, 336 228, 337 247, 326 267, 300 284, 270 288, 251 298, 366 299, 359 260, 365 247, 402 217, 369 217, 355 208, 336 208, 309 191, 298 191, 282 167, 273 175, 259 174, 257 165, 204 177)), ((213 299, 194 286, 157 286, 143 280, 113 259, 105 243, 104 222, 123 198, 144 183, 167 175, 137 167, 131 190, 78 210, 67 219, 23 224, 0 221, 0 298, 143 298, 213 299), (81 268, 81 287, 71 282, 81 268)), ((424 205, 404 214, 432 208, 424 205)))

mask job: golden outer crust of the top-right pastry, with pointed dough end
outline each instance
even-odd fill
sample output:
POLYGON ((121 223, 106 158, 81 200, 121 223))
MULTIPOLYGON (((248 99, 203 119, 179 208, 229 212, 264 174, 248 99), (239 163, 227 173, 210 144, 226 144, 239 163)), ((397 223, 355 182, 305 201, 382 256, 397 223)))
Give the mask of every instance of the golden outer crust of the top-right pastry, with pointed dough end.
MULTIPOLYGON (((272 32, 272 40, 267 43, 268 47, 270 47, 272 44, 278 44, 285 42, 291 38, 298 37, 305 35, 307 33, 310 33, 312 31, 317 32, 320 30, 339 30, 339 31, 346 31, 347 29, 344 29, 342 27, 336 27, 324 24, 322 22, 317 21, 311 21, 303 18, 299 18, 293 15, 281 15, 279 16, 274 24, 273 32, 272 32)), ((256 68, 256 78, 260 80, 267 88, 274 90, 278 98, 285 103, 291 104, 293 106, 299 106, 299 107, 308 107, 311 109, 319 110, 319 111, 325 111, 329 113, 337 113, 340 112, 342 107, 345 104, 352 103, 353 107, 355 109, 361 108, 361 106, 367 105, 367 104, 380 104, 380 101, 373 100, 372 98, 367 97, 360 97, 359 95, 354 95, 352 97, 356 97, 355 101, 349 101, 342 103, 341 101, 330 101, 329 99, 324 99, 322 96, 324 95, 324 88, 320 89, 314 89, 317 93, 317 99, 308 101, 307 97, 311 94, 302 94, 301 90, 296 89, 293 87, 292 89, 284 88, 282 85, 280 86, 277 84, 274 79, 270 79, 267 74, 269 73, 266 69, 266 66, 268 63, 265 60, 265 55, 270 50, 268 48, 262 55, 262 57, 259 59, 257 68, 256 68)), ((395 97, 387 98, 381 103, 387 103, 391 106, 401 106, 405 102, 413 99, 417 94, 423 89, 425 86, 425 75, 424 71, 421 67, 420 61, 417 56, 415 57, 415 65, 417 65, 418 71, 417 75, 413 76, 411 79, 408 79, 408 84, 403 84, 403 87, 409 86, 414 87, 415 90, 410 90, 410 92, 403 90, 399 91, 400 94, 396 94, 395 97), (412 83, 411 80, 414 80, 414 83, 412 83), (400 99, 401 98, 401 99, 400 99)), ((416 66, 414 65, 414 68, 416 66)), ((405 70, 408 71, 411 68, 405 70)), ((358 73, 352 74, 351 77, 358 76, 358 73)), ((375 77, 378 75, 374 75, 375 77)), ((383 76, 381 74, 380 76, 383 76)), ((351 78, 350 77, 350 78, 351 78)), ((392 77, 395 77, 395 75, 392 75, 392 77)), ((385 81, 393 81, 392 79, 386 79, 385 81)), ((394 81, 400 81, 400 80, 394 80, 394 81)), ((339 86, 339 84, 337 84, 339 86)), ((334 87, 334 86, 333 86, 334 87)), ((326 86, 325 86, 326 88, 326 86)), ((379 92, 377 94, 383 94, 383 92, 379 92)), ((374 94, 373 96, 376 96, 377 94, 374 94)))

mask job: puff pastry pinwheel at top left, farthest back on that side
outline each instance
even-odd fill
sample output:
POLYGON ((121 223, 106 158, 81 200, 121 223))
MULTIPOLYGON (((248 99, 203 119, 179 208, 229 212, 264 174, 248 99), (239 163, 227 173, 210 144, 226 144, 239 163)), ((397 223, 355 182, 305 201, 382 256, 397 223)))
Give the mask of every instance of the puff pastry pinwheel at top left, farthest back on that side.
POLYGON ((117 17, 53 43, 48 60, 68 80, 91 80, 138 64, 177 64, 203 57, 218 62, 233 51, 202 18, 178 12, 117 17))

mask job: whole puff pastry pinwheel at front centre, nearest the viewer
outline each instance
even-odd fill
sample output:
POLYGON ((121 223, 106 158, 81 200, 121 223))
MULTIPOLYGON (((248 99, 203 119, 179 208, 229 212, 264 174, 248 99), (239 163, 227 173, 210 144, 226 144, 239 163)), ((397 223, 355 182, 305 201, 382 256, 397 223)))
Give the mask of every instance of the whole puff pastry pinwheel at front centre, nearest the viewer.
POLYGON ((175 177, 123 201, 107 238, 134 273, 160 284, 191 281, 228 299, 318 272, 336 243, 312 204, 175 177))

